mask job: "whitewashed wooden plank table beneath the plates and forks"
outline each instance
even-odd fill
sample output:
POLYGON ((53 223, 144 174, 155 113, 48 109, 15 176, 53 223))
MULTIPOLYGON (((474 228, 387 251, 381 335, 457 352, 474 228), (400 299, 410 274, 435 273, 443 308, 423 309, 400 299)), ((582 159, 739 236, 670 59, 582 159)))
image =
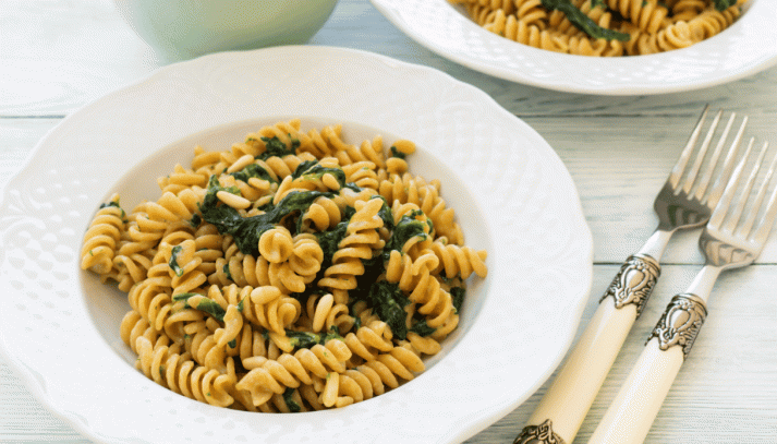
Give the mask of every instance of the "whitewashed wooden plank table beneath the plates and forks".
MULTIPOLYGON (((311 45, 357 48, 442 70, 491 95, 556 148, 576 183, 594 236, 594 281, 581 328, 620 262, 652 232, 655 193, 704 104, 749 115, 751 133, 777 143, 777 69, 700 92, 661 96, 556 93, 449 62, 404 36, 367 0, 341 0, 311 45)), ((160 65, 109 0, 3 0, 0 185, 69 113, 160 65)), ((700 268, 696 236, 685 232, 672 240, 655 300, 634 326, 575 442, 587 441, 666 301, 700 268)), ((721 276, 705 327, 647 443, 777 442, 775 284, 777 239, 756 265, 721 276)), ((544 391, 468 443, 512 442, 544 391)), ((44 442, 90 441, 47 411, 0 361, 0 443, 44 442)))

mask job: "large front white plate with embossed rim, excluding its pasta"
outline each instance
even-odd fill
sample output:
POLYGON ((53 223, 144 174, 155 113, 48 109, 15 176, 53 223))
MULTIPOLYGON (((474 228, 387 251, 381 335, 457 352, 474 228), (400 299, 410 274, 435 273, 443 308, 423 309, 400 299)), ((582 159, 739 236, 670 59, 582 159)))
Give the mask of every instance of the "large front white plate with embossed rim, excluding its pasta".
POLYGON ((591 285, 592 239, 576 191, 536 132, 447 74, 354 50, 281 47, 161 69, 52 130, 8 183, 0 215, 0 350, 44 405, 97 441, 460 442, 550 375, 591 285), (240 140, 246 120, 281 116, 413 140, 421 169, 451 171, 444 195, 474 202, 459 217, 468 242, 489 253, 461 332, 433 365, 343 409, 248 413, 156 385, 119 339, 125 298, 78 268, 92 215, 111 189, 126 187, 128 171, 145 165, 138 176, 156 175, 150 167, 173 161, 173 151, 191 156, 194 140, 240 140))

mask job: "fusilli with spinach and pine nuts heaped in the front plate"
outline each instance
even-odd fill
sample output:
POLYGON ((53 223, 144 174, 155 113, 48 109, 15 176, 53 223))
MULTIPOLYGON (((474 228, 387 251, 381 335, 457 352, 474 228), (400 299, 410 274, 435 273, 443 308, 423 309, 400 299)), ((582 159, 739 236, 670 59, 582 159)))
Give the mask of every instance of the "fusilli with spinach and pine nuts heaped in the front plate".
POLYGON ((128 293, 119 329, 137 370, 260 412, 344 407, 423 372, 470 275, 487 269, 440 183, 409 172, 414 151, 293 119, 222 152, 195 147, 129 214, 111 196, 82 267, 128 293))

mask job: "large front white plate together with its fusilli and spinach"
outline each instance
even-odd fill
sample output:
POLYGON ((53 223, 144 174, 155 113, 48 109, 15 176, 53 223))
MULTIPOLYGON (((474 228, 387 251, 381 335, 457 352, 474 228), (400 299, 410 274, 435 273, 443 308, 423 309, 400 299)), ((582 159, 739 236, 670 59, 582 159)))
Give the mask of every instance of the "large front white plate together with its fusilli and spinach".
POLYGON ((592 278, 539 134, 342 48, 118 89, 40 142, 0 215, 0 352, 100 442, 461 442, 553 373, 592 278))

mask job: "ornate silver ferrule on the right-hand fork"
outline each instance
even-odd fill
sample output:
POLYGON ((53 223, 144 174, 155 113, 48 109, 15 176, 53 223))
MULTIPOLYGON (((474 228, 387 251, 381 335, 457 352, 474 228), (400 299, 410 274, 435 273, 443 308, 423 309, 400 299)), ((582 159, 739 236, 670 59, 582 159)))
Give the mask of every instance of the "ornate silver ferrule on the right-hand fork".
POLYGON ((702 298, 692 293, 677 295, 671 298, 647 341, 658 338, 661 350, 682 347, 682 358, 685 359, 706 317, 707 307, 702 298))

